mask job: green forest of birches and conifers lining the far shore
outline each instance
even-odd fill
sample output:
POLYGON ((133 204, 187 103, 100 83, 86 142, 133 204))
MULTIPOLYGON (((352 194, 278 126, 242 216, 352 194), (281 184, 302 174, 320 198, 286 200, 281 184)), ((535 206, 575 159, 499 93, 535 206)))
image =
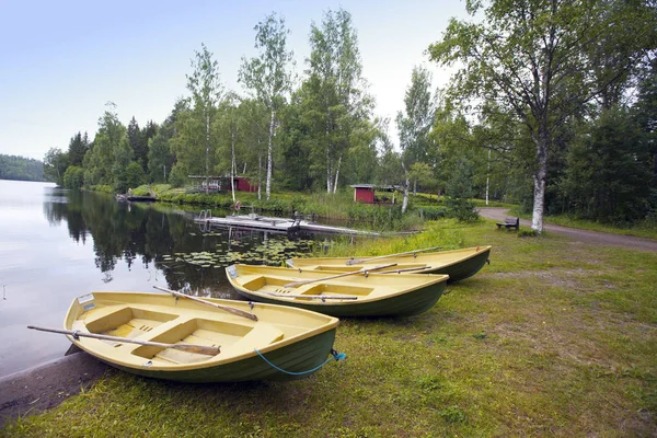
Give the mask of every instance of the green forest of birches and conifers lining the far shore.
POLYGON ((242 90, 222 84, 201 44, 166 119, 125 126, 110 102, 93 138, 77 132, 47 152, 46 175, 117 193, 244 175, 266 199, 392 184, 402 211, 416 192, 495 199, 531 212, 538 232, 551 214, 657 223, 655 1, 465 7, 471 20, 452 19, 427 42, 430 62, 457 68, 450 83, 436 89, 416 66, 394 119, 374 114, 348 11, 310 24, 300 76, 285 19, 272 13, 254 27, 257 55, 242 59, 242 90))

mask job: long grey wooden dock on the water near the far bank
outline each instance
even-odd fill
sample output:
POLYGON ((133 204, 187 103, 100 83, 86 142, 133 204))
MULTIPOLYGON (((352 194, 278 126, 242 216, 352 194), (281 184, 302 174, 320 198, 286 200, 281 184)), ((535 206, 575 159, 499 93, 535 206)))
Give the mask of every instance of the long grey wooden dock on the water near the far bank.
POLYGON ((323 226, 303 219, 272 218, 256 214, 227 216, 224 218, 212 217, 206 210, 203 210, 198 217, 194 218, 197 223, 239 227, 252 230, 280 231, 280 232, 316 232, 326 234, 351 234, 351 235, 371 235, 378 237, 380 233, 372 231, 362 231, 345 227, 323 226))

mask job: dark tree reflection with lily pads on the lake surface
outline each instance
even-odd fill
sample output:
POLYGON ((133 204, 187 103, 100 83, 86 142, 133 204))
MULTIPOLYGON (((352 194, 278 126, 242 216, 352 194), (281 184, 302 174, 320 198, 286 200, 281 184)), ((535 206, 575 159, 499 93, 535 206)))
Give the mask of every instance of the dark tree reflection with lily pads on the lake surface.
POLYGON ((192 214, 161 204, 122 203, 105 194, 54 189, 43 205, 50 224, 66 222, 79 244, 93 242, 95 266, 105 284, 118 263, 149 279, 199 296, 237 298, 223 267, 234 262, 279 265, 312 247, 311 237, 199 228, 192 214), (91 238, 91 239, 90 239, 91 238), (198 263, 198 254, 209 263, 198 263), (195 258, 196 257, 196 258, 195 258))

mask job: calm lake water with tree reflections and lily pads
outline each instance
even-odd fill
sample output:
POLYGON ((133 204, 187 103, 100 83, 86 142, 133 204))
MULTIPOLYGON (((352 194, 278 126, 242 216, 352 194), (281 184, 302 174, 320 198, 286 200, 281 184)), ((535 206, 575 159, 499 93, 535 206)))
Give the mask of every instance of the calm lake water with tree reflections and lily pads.
POLYGON ((238 260, 278 264, 313 242, 201 230, 191 214, 159 204, 0 180, 0 377, 64 355, 70 345, 65 336, 26 325, 61 328, 76 297, 154 291, 157 285, 239 299, 224 266, 238 260))

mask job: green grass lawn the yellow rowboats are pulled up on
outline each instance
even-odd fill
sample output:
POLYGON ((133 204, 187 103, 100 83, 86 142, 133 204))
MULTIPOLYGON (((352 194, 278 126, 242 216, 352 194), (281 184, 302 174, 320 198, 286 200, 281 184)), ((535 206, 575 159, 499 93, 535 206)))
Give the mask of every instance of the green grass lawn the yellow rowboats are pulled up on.
POLYGON ((192 385, 111 372, 2 436, 657 436, 657 254, 519 239, 494 221, 336 244, 378 255, 494 245, 429 312, 344 319, 347 359, 288 383, 192 385))

